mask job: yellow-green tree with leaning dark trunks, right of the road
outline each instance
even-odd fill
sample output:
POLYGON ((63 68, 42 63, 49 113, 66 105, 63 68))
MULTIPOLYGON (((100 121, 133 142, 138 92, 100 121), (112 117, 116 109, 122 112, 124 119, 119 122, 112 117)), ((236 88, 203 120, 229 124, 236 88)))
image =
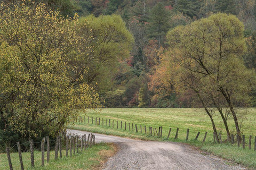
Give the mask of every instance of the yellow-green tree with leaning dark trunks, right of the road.
MULTIPOLYGON (((179 85, 193 88, 199 98, 206 97, 220 114, 222 107, 228 107, 238 135, 241 130, 234 107, 249 103, 254 79, 242 60, 246 49, 243 31, 243 23, 236 16, 218 13, 175 28, 168 35, 171 56, 186 82, 179 85)), ((225 124, 225 117, 222 120, 225 124)))

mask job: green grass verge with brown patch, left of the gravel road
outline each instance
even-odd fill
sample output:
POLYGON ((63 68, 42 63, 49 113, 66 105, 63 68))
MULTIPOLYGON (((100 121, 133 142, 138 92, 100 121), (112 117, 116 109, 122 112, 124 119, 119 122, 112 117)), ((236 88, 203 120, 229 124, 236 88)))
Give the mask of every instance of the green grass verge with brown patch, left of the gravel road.
MULTIPOLYGON (((41 166, 41 152, 35 151, 35 167, 32 168, 30 164, 30 152, 22 153, 22 160, 24 169, 100 169, 103 162, 108 157, 114 155, 115 147, 107 143, 99 143, 91 148, 87 148, 85 151, 73 154, 72 157, 65 157, 65 151, 62 151, 62 158, 54 160, 54 151, 50 152, 50 162, 46 163, 45 152, 45 165, 41 166)), ((13 169, 20 169, 19 155, 17 152, 11 153, 11 161, 13 169)), ((0 169, 10 169, 7 155, 0 154, 0 169)))

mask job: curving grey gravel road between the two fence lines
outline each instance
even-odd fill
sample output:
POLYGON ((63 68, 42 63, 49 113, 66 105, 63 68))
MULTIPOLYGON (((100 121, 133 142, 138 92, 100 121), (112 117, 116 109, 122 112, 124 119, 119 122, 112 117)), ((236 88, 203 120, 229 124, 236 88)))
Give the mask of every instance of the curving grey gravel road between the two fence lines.
MULTIPOLYGON (((90 132, 69 130, 78 135, 90 132)), ((140 141, 93 133, 95 142, 113 142, 117 154, 103 169, 246 169, 231 162, 177 142, 140 141)))

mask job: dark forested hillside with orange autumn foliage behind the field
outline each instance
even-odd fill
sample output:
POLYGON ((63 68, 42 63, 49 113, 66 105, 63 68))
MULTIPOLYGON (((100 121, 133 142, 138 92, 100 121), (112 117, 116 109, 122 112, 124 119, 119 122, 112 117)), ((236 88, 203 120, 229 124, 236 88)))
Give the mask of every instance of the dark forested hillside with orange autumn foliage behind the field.
MULTIPOLYGON (((98 82, 97 90, 105 100, 106 107, 201 106, 192 92, 178 94, 171 78, 166 78, 167 66, 160 65, 169 47, 166 43, 169 30, 207 18, 213 13, 234 14, 244 23, 247 43, 244 62, 250 69, 256 66, 254 0, 70 0, 61 8, 64 15, 75 12, 79 16, 121 15, 134 37, 130 56, 120 60, 115 69, 112 67, 113 74, 94 80, 98 82)), ((252 106, 255 104, 253 102, 252 106)))

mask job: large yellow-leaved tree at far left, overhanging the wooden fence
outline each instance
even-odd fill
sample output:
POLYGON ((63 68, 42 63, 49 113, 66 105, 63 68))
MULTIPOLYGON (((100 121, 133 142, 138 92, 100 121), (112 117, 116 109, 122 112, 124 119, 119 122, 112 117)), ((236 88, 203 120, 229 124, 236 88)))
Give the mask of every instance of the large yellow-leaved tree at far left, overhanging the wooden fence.
MULTIPOLYGON (((76 18, 63 19, 42 3, 27 6, 24 1, 2 3, 0 13, 1 133, 54 137, 74 109, 99 106, 98 94, 87 83, 72 82, 70 63, 81 45, 76 18)), ((6 142, 15 141, 1 144, 6 142)))

